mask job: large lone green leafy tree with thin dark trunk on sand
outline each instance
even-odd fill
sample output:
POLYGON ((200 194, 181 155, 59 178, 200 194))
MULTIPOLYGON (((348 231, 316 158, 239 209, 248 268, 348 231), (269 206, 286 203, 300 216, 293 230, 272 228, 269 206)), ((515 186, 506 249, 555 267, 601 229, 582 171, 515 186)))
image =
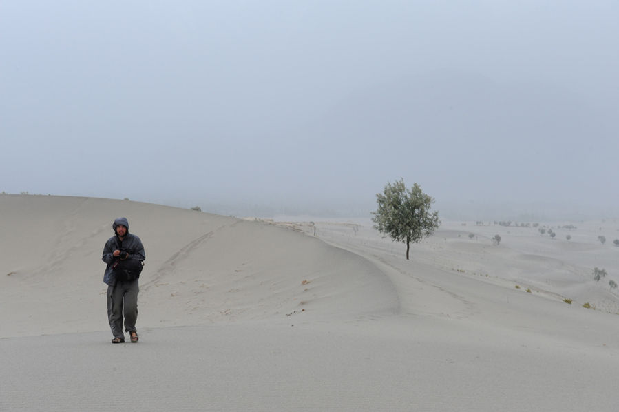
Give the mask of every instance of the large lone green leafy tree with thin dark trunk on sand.
POLYGON ((372 212, 374 229, 388 234, 395 242, 406 242, 406 260, 410 243, 418 243, 439 227, 439 212, 430 212, 434 199, 421 192, 415 183, 406 190, 404 180, 387 183, 383 193, 376 194, 378 209, 372 212))

